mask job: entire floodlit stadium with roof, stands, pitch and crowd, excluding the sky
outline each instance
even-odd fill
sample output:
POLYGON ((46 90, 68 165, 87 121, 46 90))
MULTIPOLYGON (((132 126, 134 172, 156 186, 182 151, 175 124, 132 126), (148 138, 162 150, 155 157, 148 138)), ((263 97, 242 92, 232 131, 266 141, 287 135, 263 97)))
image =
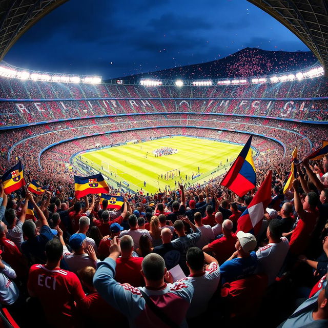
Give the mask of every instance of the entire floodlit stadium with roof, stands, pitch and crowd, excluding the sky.
POLYGON ((0 326, 328 326, 328 6, 249 2, 312 52, 245 48, 209 73, 202 64, 110 80, 37 71, 4 57, 65 1, 1 2, 0 326), (131 234, 131 253, 134 230, 149 238, 131 234), (147 263, 175 268, 166 243, 183 280, 162 274, 166 292, 152 294, 147 263), (310 303, 311 318, 296 322, 310 303))

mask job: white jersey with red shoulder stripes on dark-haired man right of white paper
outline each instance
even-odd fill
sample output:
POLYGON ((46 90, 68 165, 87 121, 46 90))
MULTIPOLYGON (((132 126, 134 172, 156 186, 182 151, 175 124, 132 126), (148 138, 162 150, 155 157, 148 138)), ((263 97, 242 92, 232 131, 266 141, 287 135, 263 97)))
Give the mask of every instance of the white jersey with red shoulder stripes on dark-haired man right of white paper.
POLYGON ((220 267, 212 262, 201 276, 190 275, 187 278, 194 286, 194 296, 187 312, 187 318, 193 318, 207 310, 208 303, 220 281, 220 267))

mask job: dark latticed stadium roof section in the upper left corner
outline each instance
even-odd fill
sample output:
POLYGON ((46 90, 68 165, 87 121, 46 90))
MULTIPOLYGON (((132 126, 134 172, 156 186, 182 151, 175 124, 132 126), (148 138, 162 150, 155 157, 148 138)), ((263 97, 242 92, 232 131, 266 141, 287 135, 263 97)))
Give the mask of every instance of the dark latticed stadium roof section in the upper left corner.
POLYGON ((0 0, 0 60, 32 25, 67 0, 0 0))

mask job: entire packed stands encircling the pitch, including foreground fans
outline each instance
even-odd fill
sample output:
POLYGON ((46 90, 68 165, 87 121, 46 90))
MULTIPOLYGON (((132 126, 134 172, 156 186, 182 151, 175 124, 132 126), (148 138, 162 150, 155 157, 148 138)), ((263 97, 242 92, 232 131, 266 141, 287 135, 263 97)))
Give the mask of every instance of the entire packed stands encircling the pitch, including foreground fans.
MULTIPOLYGON (((277 68, 255 51, 224 77, 287 71, 279 60, 277 68)), ((8 327, 328 326, 328 81, 247 80, 149 87, 0 77, 0 313, 8 327), (240 153, 229 186, 228 167, 207 183, 155 193, 97 180, 77 160, 167 136, 244 149, 251 140, 254 158, 250 146, 240 153), (26 186, 8 189, 23 173, 26 186), (74 176, 106 194, 81 195, 74 176)), ((165 146, 155 156, 178 152, 165 146)))

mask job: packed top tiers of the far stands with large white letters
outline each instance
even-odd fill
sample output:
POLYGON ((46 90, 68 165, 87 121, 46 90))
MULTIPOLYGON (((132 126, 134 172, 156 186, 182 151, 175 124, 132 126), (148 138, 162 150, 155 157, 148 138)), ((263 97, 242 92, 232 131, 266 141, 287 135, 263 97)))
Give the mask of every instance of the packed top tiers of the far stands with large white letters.
POLYGON ((7 95, 4 98, 17 99, 0 102, 1 125, 149 112, 229 113, 300 120, 326 120, 328 113, 328 103, 325 100, 328 88, 326 78, 264 85, 184 86, 181 88, 176 86, 147 88, 138 85, 65 85, 14 79, 12 81, 2 78, 0 80, 3 81, 3 92, 7 95), (42 87, 32 88, 33 83, 40 84, 42 87), (55 91, 64 87, 70 89, 68 94, 55 91), (19 100, 22 99, 20 96, 24 88, 26 88, 26 97, 23 99, 61 100, 19 100), (46 92, 33 93, 33 90, 40 91, 42 88, 53 89, 53 96, 46 92), (96 94, 86 92, 88 88, 97 91, 96 94), (105 89, 108 91, 104 93, 105 89), (20 90, 20 92, 13 90, 20 90), (312 97, 321 97, 321 99, 306 99, 312 97))

